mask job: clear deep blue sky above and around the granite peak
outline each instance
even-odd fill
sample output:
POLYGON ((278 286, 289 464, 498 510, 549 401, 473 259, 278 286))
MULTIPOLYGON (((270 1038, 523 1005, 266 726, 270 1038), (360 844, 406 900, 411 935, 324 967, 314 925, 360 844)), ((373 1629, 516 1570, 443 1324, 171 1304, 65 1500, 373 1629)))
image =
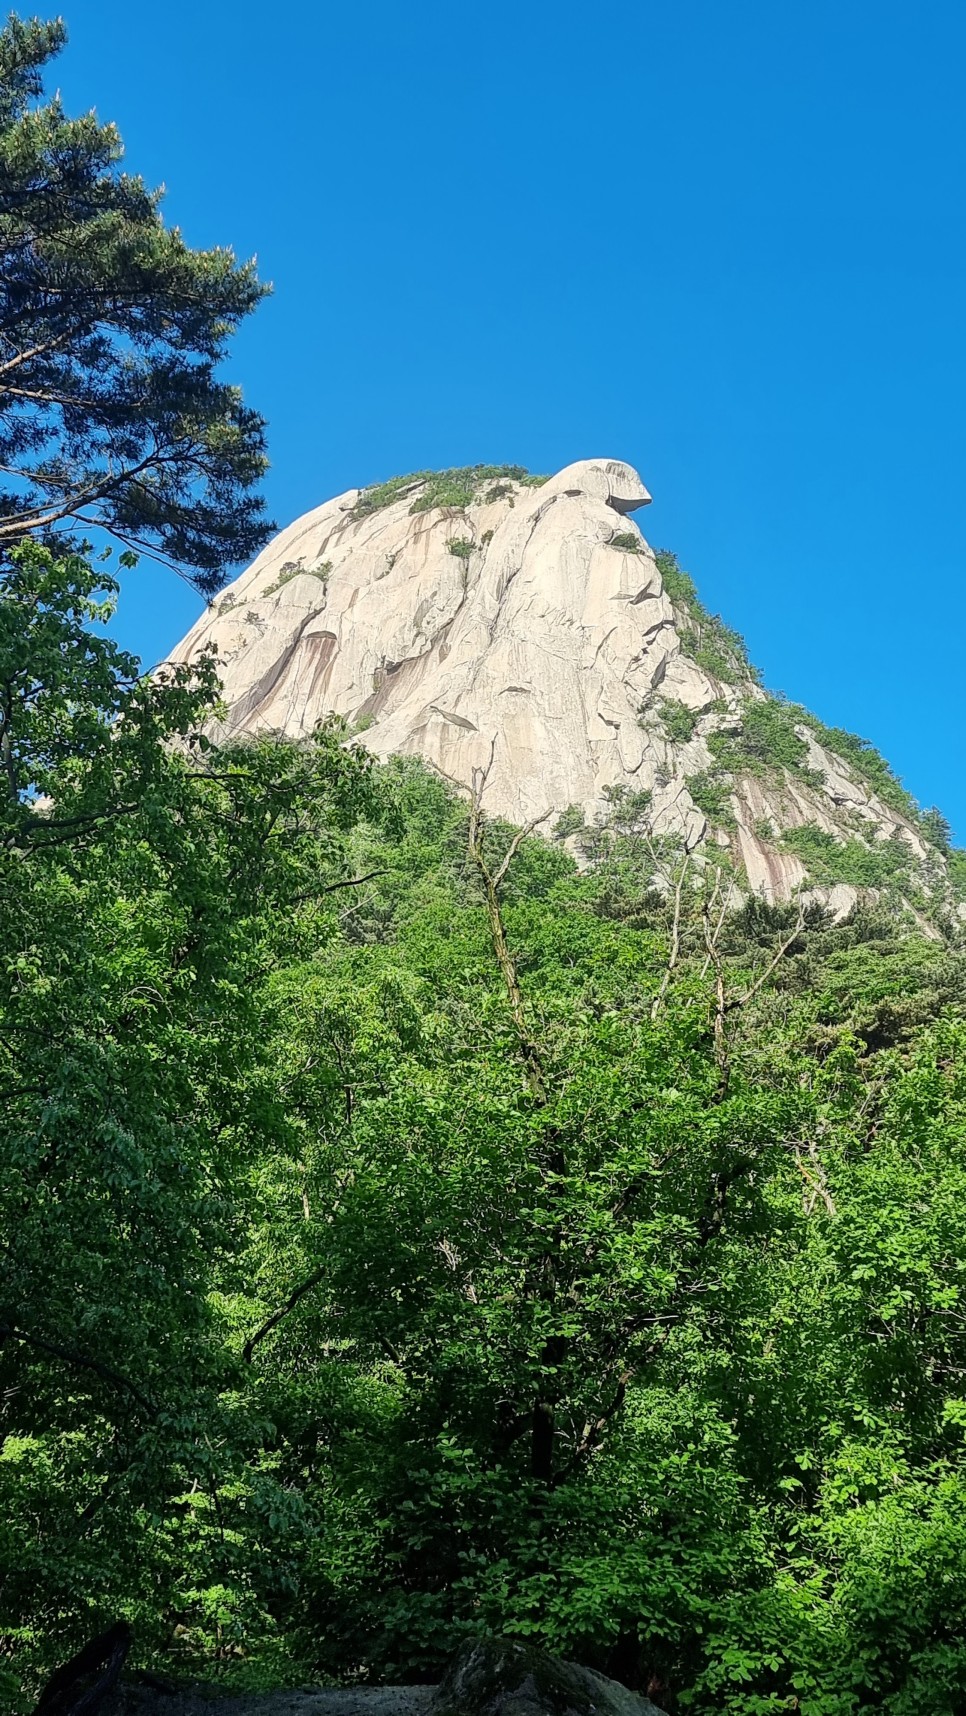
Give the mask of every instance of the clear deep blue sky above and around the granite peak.
MULTIPOLYGON (((51 74, 275 297, 232 376, 275 518, 626 458, 772 688, 966 843, 966 7, 65 0, 51 74)), ((199 607, 142 565, 118 630, 199 607)))

